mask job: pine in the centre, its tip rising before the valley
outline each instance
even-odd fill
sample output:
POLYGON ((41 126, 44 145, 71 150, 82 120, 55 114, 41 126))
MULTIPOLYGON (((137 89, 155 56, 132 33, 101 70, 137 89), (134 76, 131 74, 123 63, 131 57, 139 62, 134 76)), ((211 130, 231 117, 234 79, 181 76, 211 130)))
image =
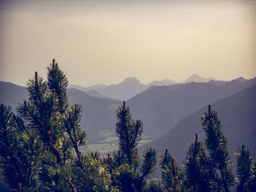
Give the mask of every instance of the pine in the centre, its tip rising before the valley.
POLYGON ((156 169, 157 152, 152 148, 146 149, 139 167, 138 145, 143 134, 142 122, 132 119, 125 101, 121 107, 118 107, 116 114, 119 150, 117 154, 114 153, 113 160, 108 157, 110 172, 113 172, 112 185, 121 191, 142 191, 146 179, 156 169))

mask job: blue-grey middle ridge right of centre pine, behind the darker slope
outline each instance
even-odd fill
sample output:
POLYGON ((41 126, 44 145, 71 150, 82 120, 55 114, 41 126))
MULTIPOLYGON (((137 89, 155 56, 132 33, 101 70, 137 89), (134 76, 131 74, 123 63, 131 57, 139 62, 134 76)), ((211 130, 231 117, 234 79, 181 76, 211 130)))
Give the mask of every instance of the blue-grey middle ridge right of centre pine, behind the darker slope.
POLYGON ((144 134, 157 138, 205 104, 231 96, 252 85, 256 85, 256 78, 246 82, 232 80, 223 85, 189 82, 156 86, 129 99, 127 105, 133 117, 143 121, 144 134))

